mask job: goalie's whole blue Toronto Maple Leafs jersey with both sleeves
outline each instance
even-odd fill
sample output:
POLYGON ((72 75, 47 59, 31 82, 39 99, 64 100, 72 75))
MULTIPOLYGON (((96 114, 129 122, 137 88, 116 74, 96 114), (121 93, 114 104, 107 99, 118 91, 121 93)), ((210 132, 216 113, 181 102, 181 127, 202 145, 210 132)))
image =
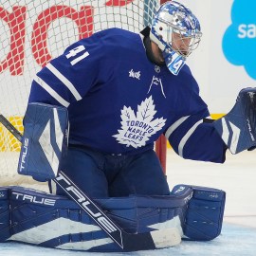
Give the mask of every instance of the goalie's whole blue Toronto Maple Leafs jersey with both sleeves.
POLYGON ((224 160, 189 67, 174 76, 150 62, 137 33, 111 28, 69 46, 36 75, 29 102, 65 106, 72 144, 137 154, 165 134, 184 158, 224 160))

